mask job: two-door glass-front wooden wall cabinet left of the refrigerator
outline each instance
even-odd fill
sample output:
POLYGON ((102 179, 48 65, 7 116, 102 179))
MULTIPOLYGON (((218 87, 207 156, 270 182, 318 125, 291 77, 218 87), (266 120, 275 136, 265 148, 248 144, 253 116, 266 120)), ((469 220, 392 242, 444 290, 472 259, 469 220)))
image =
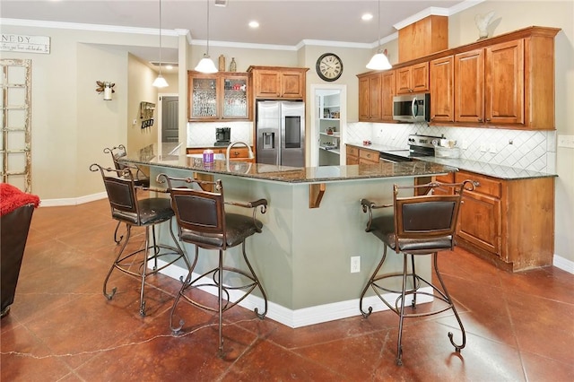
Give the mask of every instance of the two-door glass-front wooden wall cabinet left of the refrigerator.
POLYGON ((249 120, 248 80, 247 73, 187 72, 188 119, 190 121, 249 120))

